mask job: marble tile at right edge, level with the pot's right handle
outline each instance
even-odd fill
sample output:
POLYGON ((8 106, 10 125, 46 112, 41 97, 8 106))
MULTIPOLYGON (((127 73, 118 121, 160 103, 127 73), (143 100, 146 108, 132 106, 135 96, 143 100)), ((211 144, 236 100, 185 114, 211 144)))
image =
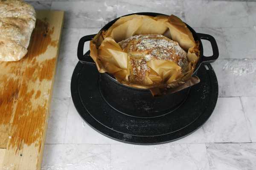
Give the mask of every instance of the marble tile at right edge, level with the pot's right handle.
POLYGON ((256 28, 222 28, 230 58, 256 59, 256 28))

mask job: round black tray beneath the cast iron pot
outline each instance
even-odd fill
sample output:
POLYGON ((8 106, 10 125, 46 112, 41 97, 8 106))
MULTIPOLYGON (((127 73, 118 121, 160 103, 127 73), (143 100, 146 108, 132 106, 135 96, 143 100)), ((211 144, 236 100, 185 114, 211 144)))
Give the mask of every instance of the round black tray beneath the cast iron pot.
POLYGON ((200 67, 197 75, 201 82, 190 88, 179 108, 157 117, 129 116, 109 106, 100 94, 99 72, 93 65, 76 65, 71 94, 82 119, 99 133, 130 144, 162 144, 189 135, 211 116, 218 99, 216 75, 210 64, 200 67))

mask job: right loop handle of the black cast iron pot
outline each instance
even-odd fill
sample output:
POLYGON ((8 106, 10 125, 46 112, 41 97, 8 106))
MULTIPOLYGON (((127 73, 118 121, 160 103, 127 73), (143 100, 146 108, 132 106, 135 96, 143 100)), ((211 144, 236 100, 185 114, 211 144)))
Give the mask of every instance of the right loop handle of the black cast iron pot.
POLYGON ((216 59, 218 59, 218 55, 219 55, 216 40, 214 39, 214 37, 212 37, 209 34, 197 33, 197 35, 199 39, 208 40, 209 42, 211 42, 211 45, 212 45, 212 56, 206 57, 204 56, 204 54, 202 54, 202 57, 203 57, 202 63, 208 64, 208 63, 214 62, 216 59))

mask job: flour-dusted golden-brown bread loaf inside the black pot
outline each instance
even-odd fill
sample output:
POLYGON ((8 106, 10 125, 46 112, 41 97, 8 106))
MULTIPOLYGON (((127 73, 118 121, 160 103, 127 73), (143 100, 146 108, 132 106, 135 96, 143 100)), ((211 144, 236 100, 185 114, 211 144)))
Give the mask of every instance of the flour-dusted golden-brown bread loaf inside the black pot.
POLYGON ((147 34, 130 37, 119 42, 121 48, 128 53, 129 82, 144 84, 150 73, 147 62, 152 59, 173 61, 182 71, 188 65, 187 53, 178 42, 163 35, 147 34))

